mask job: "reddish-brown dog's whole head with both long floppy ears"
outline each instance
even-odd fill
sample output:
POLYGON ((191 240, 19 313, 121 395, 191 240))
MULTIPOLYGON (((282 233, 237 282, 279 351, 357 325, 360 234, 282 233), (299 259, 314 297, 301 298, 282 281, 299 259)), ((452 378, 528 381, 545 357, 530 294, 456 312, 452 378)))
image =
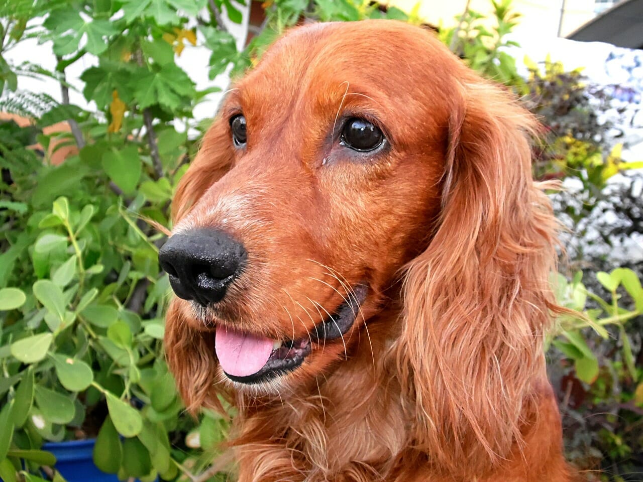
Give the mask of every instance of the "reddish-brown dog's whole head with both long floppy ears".
POLYGON ((226 96, 161 249, 188 406, 217 386, 314 383, 379 317, 419 430, 487 433, 540 367, 548 317, 534 125, 421 28, 313 24, 278 40, 226 96))

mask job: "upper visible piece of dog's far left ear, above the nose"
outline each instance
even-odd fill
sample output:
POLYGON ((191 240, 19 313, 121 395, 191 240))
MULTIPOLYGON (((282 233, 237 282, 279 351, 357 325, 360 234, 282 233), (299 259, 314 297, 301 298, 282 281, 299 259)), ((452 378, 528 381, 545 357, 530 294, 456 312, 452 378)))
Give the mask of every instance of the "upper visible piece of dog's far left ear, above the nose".
POLYGON ((217 118, 201 141, 201 147, 181 177, 172 199, 172 220, 180 220, 207 190, 228 172, 232 164, 232 139, 228 124, 217 118))

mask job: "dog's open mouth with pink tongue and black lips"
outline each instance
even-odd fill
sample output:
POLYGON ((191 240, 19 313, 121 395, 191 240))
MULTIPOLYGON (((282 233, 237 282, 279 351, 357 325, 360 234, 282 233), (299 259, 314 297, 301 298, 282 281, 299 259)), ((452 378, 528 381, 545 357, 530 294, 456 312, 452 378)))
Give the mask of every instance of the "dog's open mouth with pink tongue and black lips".
POLYGON ((331 316, 309 334, 294 340, 274 340, 217 327, 215 350, 226 376, 235 382, 266 382, 300 366, 311 353, 312 343, 341 338, 355 322, 368 288, 357 285, 331 316))

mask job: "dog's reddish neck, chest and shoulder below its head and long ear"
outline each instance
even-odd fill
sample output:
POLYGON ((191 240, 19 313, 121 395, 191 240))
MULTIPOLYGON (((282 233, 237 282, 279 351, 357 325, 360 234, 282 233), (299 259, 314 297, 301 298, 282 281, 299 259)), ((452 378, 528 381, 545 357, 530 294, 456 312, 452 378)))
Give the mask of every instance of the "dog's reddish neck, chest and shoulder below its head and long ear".
MULTIPOLYGON (((415 421, 405 413, 409 407, 389 346, 398 323, 397 306, 368 320, 368 335, 360 337, 348 359, 296 393, 269 400, 237 398, 232 435, 239 482, 471 482, 464 472, 435 467, 430 454, 413 448, 415 421), (435 475, 426 479, 427 473, 435 475)), ((544 373, 534 380, 534 393, 523 405, 524 434, 527 445, 539 447, 530 452, 537 460, 517 449, 505 469, 477 482, 505 480, 503 474, 516 470, 524 470, 525 481, 541 482, 545 460, 566 474, 556 401, 544 373)))

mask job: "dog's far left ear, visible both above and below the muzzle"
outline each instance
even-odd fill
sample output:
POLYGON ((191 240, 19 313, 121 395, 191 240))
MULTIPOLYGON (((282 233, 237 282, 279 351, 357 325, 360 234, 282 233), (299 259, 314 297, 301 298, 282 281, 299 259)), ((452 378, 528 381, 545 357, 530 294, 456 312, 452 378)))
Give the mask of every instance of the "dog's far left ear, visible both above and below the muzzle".
MULTIPOLYGON (((174 224, 230 169, 233 154, 225 121, 215 120, 206 132, 199 153, 179 181, 172 203, 174 224)), ((174 299, 165 323, 165 357, 185 406, 193 413, 202 406, 221 408, 213 393, 215 382, 214 334, 190 325, 174 299)), ((222 409, 221 409, 222 411, 222 409)))

